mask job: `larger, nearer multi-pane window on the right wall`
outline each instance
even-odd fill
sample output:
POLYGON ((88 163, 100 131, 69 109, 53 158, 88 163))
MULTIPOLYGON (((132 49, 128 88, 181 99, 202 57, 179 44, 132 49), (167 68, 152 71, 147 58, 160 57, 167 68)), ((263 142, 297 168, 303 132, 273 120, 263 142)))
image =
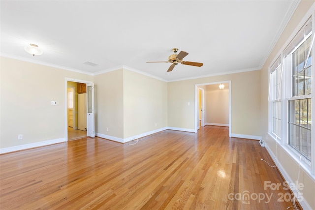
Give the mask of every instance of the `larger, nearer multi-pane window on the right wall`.
POLYGON ((287 143, 311 160, 312 53, 311 19, 284 52, 288 82, 287 143))

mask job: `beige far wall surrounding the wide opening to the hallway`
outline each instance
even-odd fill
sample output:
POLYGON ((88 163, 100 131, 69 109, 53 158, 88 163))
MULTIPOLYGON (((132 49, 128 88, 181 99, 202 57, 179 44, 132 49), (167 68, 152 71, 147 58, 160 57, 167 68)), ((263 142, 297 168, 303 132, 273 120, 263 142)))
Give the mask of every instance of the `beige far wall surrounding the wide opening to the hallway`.
POLYGON ((194 129, 195 85, 220 81, 231 81, 231 133, 259 138, 261 136, 259 70, 169 82, 168 126, 194 129))

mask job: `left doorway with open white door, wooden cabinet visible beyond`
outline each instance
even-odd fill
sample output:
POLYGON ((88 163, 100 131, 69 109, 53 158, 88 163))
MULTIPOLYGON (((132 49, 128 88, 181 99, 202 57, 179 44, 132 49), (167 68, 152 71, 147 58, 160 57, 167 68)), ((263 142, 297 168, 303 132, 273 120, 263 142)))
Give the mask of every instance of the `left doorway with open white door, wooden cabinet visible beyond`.
POLYGON ((66 90, 67 140, 94 137, 94 84, 66 78, 66 90))

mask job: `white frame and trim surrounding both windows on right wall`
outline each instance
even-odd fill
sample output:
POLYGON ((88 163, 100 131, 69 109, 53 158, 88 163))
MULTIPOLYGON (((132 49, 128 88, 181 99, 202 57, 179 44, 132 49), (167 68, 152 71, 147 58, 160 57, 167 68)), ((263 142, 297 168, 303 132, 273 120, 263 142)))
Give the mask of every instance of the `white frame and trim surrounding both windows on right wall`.
MULTIPOLYGON (((315 12, 309 11, 307 15, 303 18, 299 26, 292 32, 290 38, 287 40, 286 44, 283 46, 283 48, 280 50, 278 56, 273 60, 272 65, 269 67, 269 120, 268 120, 268 134, 270 137, 272 137, 275 141, 278 142, 278 144, 288 153, 292 156, 293 159, 297 163, 301 165, 304 170, 315 179, 315 123, 312 124, 312 131, 311 131, 311 161, 306 159, 303 155, 301 155, 297 150, 293 149, 288 144, 288 98, 289 94, 291 94, 291 90, 288 89, 288 87, 292 87, 292 77, 291 72, 287 72, 286 70, 286 63, 284 60, 284 50, 286 49, 286 46, 293 40, 294 36, 300 31, 300 29, 305 25, 305 23, 309 20, 311 17, 312 21, 312 41, 311 41, 311 48, 312 48, 312 93, 315 93, 315 80, 313 79, 315 77, 315 43, 314 43, 314 37, 315 37, 315 12), (282 71, 282 134, 281 138, 277 135, 275 135, 272 132, 272 97, 271 94, 273 94, 271 91, 271 73, 274 70, 273 65, 278 60, 278 58, 281 58, 281 65, 283 68, 282 71)), ((297 96, 299 97, 299 96, 297 96)), ((301 97, 303 98, 303 97, 301 97)), ((304 97, 305 99, 305 97, 304 97)), ((315 122, 315 98, 312 98, 312 106, 311 106, 311 112, 312 112, 312 121, 315 122)))

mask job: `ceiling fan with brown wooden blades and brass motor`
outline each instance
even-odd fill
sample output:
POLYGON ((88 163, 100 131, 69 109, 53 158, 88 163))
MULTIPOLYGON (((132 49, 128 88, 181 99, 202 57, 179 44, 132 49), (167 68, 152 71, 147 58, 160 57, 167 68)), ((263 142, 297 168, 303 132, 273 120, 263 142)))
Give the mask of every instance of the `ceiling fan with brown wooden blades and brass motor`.
POLYGON ((177 48, 173 48, 172 50, 173 50, 173 52, 175 54, 170 55, 168 57, 168 61, 148 61, 147 63, 157 63, 157 62, 166 62, 167 63, 167 62, 170 62, 170 63, 172 63, 172 65, 168 68, 167 72, 172 71, 173 68, 175 67, 175 65, 177 65, 178 63, 182 63, 184 65, 199 66, 199 67, 203 65, 203 63, 191 62, 191 61, 183 60, 183 58, 185 58, 188 55, 188 53, 186 53, 185 51, 181 51, 177 55, 176 53, 178 52, 178 49, 177 48))

